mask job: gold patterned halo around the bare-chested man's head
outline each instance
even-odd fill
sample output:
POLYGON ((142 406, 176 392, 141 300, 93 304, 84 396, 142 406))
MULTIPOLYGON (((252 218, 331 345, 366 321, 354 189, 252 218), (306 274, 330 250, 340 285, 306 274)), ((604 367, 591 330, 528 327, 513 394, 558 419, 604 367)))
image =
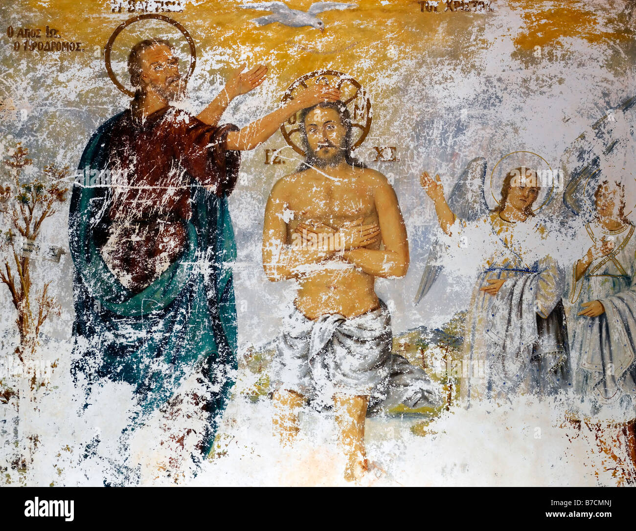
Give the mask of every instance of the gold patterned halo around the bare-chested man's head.
MULTIPOLYGON (((343 74, 342 72, 338 72, 335 70, 326 70, 326 69, 309 72, 308 74, 305 74, 304 76, 301 76, 300 78, 296 79, 296 81, 294 81, 291 85, 287 87, 287 90, 283 94, 282 102, 286 103, 289 100, 293 100, 294 99, 293 91, 296 90, 298 86, 304 86, 305 88, 307 88, 307 81, 309 79, 315 79, 316 83, 319 83, 320 81, 322 81, 328 85, 329 79, 326 76, 333 76, 334 78, 338 79, 338 83, 336 84, 336 88, 338 88, 338 90, 340 90, 340 88, 345 82, 349 83, 350 85, 354 86, 354 88, 356 88, 354 95, 352 95, 351 97, 347 98, 346 100, 342 102, 343 104, 345 104, 345 106, 349 106, 351 102, 356 100, 358 95, 361 95, 363 97, 363 106, 359 107, 357 106, 357 104, 354 104, 354 112, 351 113, 351 116, 352 116, 351 127, 359 128, 362 131, 359 139, 357 139, 357 141, 352 146, 352 149, 356 149, 364 142, 364 139, 366 139, 367 135, 369 134, 369 131, 371 130, 371 121, 373 121, 373 114, 371 113, 371 100, 367 97, 366 91, 364 90, 363 86, 360 85, 360 83, 358 83, 356 79, 352 78, 352 76, 349 76, 348 74, 343 74), (357 120, 358 113, 362 113, 361 120, 357 120)), ((298 146, 298 144, 296 144, 296 142, 294 142, 293 139, 291 138, 291 135, 293 135, 294 133, 300 132, 300 125, 296 125, 297 123, 298 123, 298 113, 294 114, 293 116, 290 116, 287 121, 285 121, 284 123, 282 123, 282 125, 280 125, 280 132, 282 133, 282 136, 287 142, 287 144, 289 144, 289 146, 291 146, 291 148, 293 148, 294 151, 296 151, 296 153, 298 153, 299 155, 305 156, 305 150, 301 148, 300 146, 298 146), (296 125, 296 127, 293 127, 294 125, 296 125), (292 127, 289 128, 289 126, 292 126, 292 127)))

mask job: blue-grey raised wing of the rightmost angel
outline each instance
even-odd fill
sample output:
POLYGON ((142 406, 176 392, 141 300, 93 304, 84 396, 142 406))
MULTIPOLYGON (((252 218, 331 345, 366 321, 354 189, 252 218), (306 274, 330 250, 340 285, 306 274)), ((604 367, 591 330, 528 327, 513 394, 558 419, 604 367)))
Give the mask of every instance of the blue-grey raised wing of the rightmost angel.
MULTIPOLYGON (((593 191, 595 186, 586 189, 585 184, 591 176, 600 169, 601 161, 611 157, 612 151, 622 142, 629 141, 623 138, 620 130, 614 127, 616 117, 621 113, 625 115, 636 105, 636 96, 626 99, 618 109, 611 114, 605 114, 592 125, 592 133, 583 132, 565 150, 561 157, 560 167, 569 170, 569 183, 563 191, 563 203, 574 214, 591 211, 593 206, 593 191)), ((633 120, 625 116, 626 121, 633 120)))

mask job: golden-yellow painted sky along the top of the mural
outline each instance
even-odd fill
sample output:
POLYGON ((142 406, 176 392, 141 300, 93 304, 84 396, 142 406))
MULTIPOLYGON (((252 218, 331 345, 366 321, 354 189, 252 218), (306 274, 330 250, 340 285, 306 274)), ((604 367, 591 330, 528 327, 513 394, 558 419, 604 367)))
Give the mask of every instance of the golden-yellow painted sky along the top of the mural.
MULTIPOLYGON (((356 65, 363 60, 364 72, 373 78, 373 72, 389 68, 396 55, 445 50, 461 53, 474 25, 485 20, 482 13, 422 13, 414 0, 359 0, 354 10, 321 13, 319 17, 326 24, 326 31, 321 33, 310 27, 279 23, 256 27, 250 21, 268 13, 239 8, 240 3, 207 0, 186 3, 183 12, 163 14, 188 29, 199 57, 220 47, 230 53, 248 53, 252 64, 273 63, 281 90, 290 79, 324 67, 356 65)), ((307 10, 312 3, 287 1, 290 8, 299 10, 307 10)), ((505 3, 500 0, 498 5, 502 8, 505 3)), ((510 1, 509 8, 527 11, 523 14, 525 27, 522 31, 502 31, 501 38, 510 39, 521 56, 531 55, 536 46, 558 46, 574 37, 590 43, 626 39, 621 32, 598 29, 593 3, 569 1, 558 5, 553 1, 510 1)), ((616 5, 619 8, 621 3, 616 5)), ((48 24, 59 29, 64 38, 90 46, 104 46, 118 24, 139 14, 111 13, 107 0, 29 0, 28 7, 21 10, 34 15, 29 20, 25 17, 25 24, 48 24)), ((372 79, 359 80, 364 84, 372 79)))

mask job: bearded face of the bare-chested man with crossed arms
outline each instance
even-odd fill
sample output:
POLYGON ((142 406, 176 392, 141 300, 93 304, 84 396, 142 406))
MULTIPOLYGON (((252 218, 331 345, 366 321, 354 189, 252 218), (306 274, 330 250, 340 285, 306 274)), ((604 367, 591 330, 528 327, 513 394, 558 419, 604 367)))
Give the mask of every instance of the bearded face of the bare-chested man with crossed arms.
POLYGON ((307 163, 325 168, 345 159, 347 128, 340 114, 330 107, 316 107, 305 116, 307 163))

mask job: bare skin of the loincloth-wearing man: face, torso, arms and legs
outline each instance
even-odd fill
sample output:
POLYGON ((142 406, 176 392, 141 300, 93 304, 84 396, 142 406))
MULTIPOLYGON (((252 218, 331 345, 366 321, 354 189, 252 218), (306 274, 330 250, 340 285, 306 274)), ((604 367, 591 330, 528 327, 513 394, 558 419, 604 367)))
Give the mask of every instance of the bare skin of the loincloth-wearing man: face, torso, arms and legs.
MULTIPOLYGON (((307 170, 283 177, 273 186, 263 223, 263 268, 269 280, 298 280, 294 306, 305 318, 339 314, 351 319, 380 308, 376 277, 406 275, 406 226, 387 178, 342 156, 350 134, 342 111, 312 107, 304 120, 305 141, 312 156, 321 161, 320 169, 306 160, 307 170), (324 237, 338 241, 338 249, 324 243, 306 245, 311 240, 308 234, 315 237, 313 241, 324 242, 324 237)), ((280 434, 293 439, 298 426, 296 415, 289 416, 290 406, 301 401, 289 394, 274 399, 282 408, 275 426, 278 422, 280 434)), ((347 457, 345 477, 361 478, 367 469, 368 397, 335 396, 334 400, 347 457)))

